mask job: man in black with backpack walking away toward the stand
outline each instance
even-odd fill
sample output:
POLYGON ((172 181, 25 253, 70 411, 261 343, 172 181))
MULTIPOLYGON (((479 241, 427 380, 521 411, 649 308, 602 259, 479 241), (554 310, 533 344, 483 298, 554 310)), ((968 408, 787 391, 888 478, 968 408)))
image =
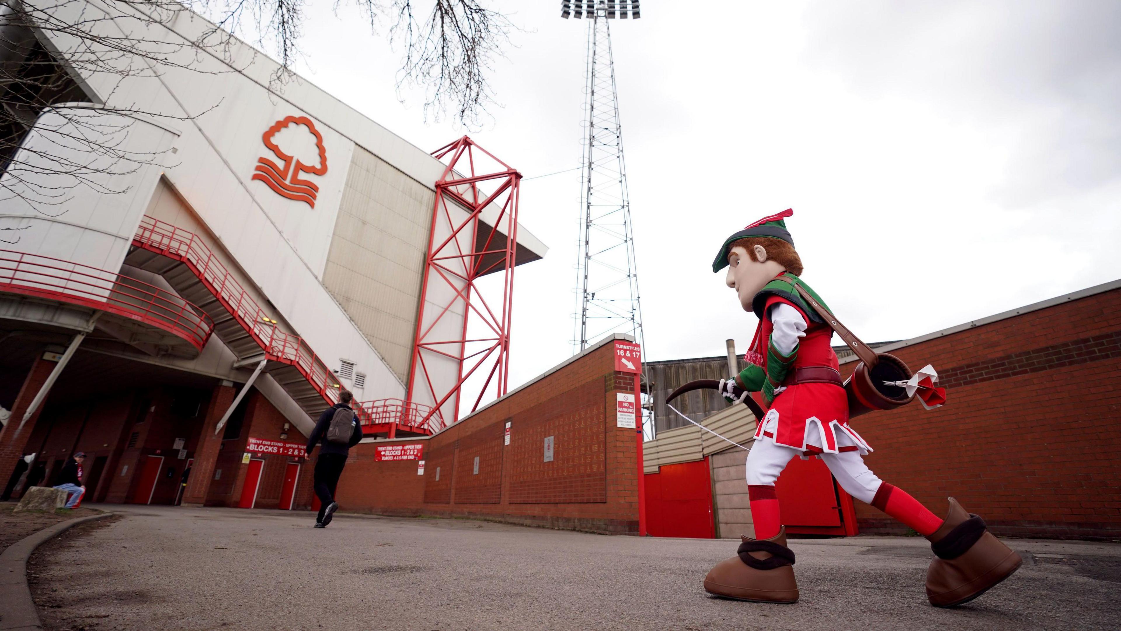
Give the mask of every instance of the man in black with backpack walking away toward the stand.
POLYGON ((353 397, 350 391, 341 390, 339 403, 319 414, 319 421, 315 423, 315 430, 307 439, 308 458, 312 457, 316 443, 319 445, 319 459, 315 461, 315 495, 322 505, 315 519, 315 528, 326 528, 331 523, 332 515, 339 510, 339 503, 335 502, 339 476, 346 466, 350 448, 362 440, 362 428, 359 427, 354 410, 350 406, 353 397))

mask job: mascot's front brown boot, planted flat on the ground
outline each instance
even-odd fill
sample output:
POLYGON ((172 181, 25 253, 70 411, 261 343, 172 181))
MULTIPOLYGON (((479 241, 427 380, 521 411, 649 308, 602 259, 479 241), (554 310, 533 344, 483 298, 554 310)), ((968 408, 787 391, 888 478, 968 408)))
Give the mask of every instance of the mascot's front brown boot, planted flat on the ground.
POLYGON ((740 537, 739 556, 720 561, 704 577, 710 594, 753 603, 793 603, 798 600, 794 580, 794 551, 786 547, 786 529, 770 539, 740 537))

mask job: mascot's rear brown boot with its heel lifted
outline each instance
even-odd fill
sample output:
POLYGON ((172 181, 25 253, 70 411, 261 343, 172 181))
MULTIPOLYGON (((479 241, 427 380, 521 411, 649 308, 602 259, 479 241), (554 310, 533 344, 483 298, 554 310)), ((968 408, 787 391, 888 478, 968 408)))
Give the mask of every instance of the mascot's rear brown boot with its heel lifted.
POLYGON ((926 597, 937 607, 972 601, 1023 563, 953 497, 946 521, 927 539, 936 556, 926 571, 926 597))

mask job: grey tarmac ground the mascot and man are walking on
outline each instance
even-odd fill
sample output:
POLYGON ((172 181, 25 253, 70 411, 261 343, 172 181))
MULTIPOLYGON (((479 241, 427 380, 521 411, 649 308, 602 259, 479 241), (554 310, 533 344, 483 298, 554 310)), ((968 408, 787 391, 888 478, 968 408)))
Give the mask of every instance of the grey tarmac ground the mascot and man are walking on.
MULTIPOLYGON (((170 506, 31 558, 48 629, 1118 629, 1121 543, 1009 540, 1023 568, 929 606, 919 538, 796 540, 802 600, 712 598, 730 540, 604 537, 469 520, 170 506)), ((83 527, 78 527, 82 529, 83 527)))

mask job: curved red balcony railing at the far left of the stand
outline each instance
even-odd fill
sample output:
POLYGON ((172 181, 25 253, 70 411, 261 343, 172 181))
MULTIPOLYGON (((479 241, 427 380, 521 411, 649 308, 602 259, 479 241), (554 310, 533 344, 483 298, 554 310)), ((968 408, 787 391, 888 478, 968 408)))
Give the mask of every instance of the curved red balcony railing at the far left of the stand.
POLYGON ((0 291, 108 311, 164 329, 202 350, 214 322, 178 295, 81 263, 0 250, 0 291))

